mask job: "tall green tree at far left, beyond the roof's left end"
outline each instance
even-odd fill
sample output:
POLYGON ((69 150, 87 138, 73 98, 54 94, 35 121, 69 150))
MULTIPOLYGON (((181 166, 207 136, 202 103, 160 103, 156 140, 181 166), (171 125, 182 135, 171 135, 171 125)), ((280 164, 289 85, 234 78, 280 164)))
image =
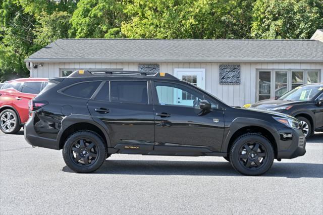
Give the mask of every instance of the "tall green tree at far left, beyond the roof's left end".
POLYGON ((24 60, 41 46, 34 44, 33 16, 24 13, 19 1, 5 0, 0 5, 0 72, 2 79, 11 73, 28 76, 24 60))

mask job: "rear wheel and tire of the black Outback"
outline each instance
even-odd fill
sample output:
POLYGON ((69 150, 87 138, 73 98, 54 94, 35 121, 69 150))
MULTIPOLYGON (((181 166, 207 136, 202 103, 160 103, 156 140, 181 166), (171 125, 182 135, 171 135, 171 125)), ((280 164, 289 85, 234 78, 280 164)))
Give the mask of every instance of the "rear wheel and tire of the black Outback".
POLYGON ((92 131, 73 133, 67 138, 63 147, 65 164, 77 173, 94 172, 103 164, 106 157, 107 149, 104 141, 92 131))

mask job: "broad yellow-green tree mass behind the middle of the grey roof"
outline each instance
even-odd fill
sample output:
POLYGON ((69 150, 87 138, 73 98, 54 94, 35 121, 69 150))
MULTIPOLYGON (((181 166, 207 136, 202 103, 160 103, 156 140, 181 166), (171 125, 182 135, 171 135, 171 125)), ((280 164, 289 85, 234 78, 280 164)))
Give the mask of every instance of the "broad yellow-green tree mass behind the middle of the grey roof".
POLYGON ((254 0, 134 0, 122 23, 130 38, 248 38, 254 0))

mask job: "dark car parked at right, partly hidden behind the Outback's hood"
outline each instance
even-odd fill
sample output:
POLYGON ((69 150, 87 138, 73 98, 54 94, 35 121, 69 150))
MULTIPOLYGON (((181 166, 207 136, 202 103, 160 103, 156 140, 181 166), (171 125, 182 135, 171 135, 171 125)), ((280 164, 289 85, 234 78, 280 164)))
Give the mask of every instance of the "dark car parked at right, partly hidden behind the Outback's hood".
POLYGON ((250 108, 276 111, 297 118, 308 138, 314 131, 323 131, 323 83, 295 87, 278 99, 261 100, 250 108))

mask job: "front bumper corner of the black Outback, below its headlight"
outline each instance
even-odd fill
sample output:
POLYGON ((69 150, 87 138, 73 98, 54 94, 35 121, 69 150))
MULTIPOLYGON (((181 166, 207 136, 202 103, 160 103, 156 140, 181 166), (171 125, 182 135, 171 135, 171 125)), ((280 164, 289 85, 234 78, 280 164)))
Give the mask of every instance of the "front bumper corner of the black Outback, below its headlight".
POLYGON ((278 131, 277 158, 295 158, 306 153, 306 138, 301 129, 283 128, 278 131))

